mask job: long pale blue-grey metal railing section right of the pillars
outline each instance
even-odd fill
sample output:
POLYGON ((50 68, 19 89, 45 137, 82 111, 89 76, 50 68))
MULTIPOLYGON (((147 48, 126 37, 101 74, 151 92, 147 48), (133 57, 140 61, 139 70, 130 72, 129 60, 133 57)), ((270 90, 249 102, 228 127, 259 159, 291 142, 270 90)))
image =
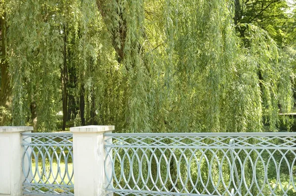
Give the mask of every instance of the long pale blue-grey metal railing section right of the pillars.
POLYGON ((108 193, 296 195, 295 133, 111 133, 108 193))

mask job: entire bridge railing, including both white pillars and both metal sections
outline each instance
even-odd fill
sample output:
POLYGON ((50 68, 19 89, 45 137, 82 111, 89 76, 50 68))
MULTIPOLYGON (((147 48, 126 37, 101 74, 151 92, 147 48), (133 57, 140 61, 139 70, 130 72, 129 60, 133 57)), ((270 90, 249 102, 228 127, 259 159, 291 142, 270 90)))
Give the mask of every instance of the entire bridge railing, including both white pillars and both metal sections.
POLYGON ((0 127, 0 195, 73 196, 74 189, 77 196, 296 194, 296 133, 32 129, 0 127))

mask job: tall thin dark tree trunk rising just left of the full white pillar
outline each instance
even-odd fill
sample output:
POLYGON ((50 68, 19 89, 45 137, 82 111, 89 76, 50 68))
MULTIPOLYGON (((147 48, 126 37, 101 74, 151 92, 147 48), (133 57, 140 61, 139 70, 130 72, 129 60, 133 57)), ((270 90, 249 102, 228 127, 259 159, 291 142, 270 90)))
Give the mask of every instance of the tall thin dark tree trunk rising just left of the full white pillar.
POLYGON ((67 32, 66 32, 66 25, 64 24, 64 62, 62 68, 62 92, 63 92, 63 130, 66 130, 66 122, 67 122, 67 115, 68 115, 68 69, 67 69, 67 32))

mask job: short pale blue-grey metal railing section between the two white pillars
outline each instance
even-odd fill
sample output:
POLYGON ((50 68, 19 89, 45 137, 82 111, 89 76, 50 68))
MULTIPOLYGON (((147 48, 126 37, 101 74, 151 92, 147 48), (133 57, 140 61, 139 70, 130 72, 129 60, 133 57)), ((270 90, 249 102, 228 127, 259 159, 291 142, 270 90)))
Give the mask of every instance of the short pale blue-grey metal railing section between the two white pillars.
POLYGON ((74 196, 73 134, 23 133, 24 195, 74 196))

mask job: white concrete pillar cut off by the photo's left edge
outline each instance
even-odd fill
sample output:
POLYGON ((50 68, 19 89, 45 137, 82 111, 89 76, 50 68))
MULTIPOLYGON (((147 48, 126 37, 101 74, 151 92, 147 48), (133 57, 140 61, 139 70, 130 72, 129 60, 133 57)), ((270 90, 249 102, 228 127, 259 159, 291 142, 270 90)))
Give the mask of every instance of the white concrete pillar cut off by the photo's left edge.
POLYGON ((0 196, 23 196, 22 132, 32 126, 0 126, 0 196))

